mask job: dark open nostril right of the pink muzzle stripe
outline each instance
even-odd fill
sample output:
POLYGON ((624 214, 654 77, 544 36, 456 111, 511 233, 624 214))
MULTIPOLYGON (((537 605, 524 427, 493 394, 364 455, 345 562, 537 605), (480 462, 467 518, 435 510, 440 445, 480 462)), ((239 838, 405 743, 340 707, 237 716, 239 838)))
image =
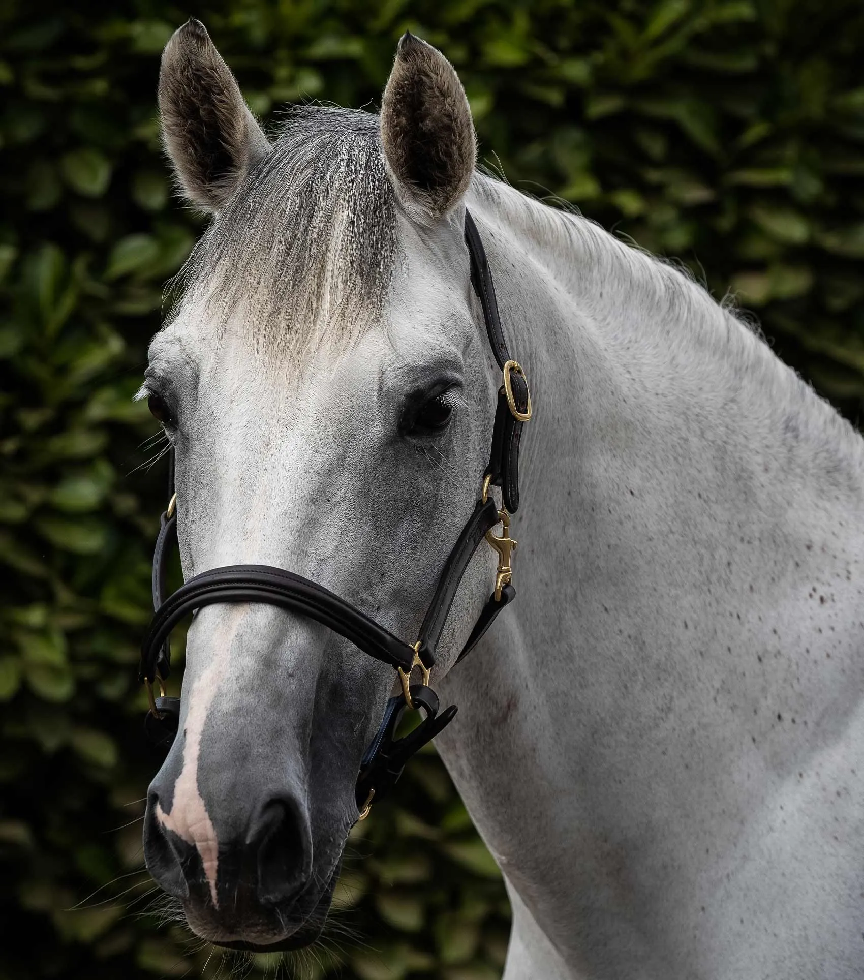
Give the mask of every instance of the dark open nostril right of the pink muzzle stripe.
POLYGON ((296 896, 312 870, 309 821, 291 798, 269 800, 250 834, 258 850, 258 897, 276 905, 296 896))

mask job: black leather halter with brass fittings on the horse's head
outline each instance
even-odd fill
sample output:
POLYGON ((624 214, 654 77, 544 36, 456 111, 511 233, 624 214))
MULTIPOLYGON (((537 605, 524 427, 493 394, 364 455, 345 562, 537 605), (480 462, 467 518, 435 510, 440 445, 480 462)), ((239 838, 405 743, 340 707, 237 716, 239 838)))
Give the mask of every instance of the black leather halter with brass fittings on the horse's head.
POLYGON ((515 589, 510 584, 509 555, 515 542, 508 536, 509 514, 519 507, 519 441, 522 425, 531 417, 531 398, 522 368, 510 359, 504 341, 492 272, 483 250, 477 226, 465 212, 465 243, 471 261, 471 284, 483 308, 483 319, 492 352, 504 373, 498 393, 492 451, 484 473, 482 499, 477 502, 451 551, 432 601, 420 626, 414 646, 395 636, 351 603, 313 582, 283 568, 270 565, 237 564, 212 568, 195 575, 172 595, 165 596, 165 567, 168 552, 176 546, 177 515, 173 496, 173 453, 170 456, 169 492, 171 503, 162 515, 156 552, 153 557, 154 614, 141 645, 139 680, 146 684, 150 711, 145 719, 149 740, 168 752, 177 732, 180 699, 154 697, 153 684, 160 684, 170 672, 170 634, 188 613, 216 603, 260 602, 292 613, 309 616, 350 640, 360 651, 391 664, 400 672, 404 694, 391 698, 375 738, 360 763, 357 804, 361 817, 372 799, 386 796, 402 774, 406 762, 433 739, 456 715, 456 706, 440 711, 438 698, 428 686, 428 671, 435 663, 435 650, 456 597, 459 582, 484 538, 499 552, 496 590, 483 607, 456 662, 465 657, 501 613, 512 602, 515 589), (504 510, 499 512, 488 495, 489 486, 501 488, 504 510), (498 524, 504 534, 491 534, 498 524), (504 542, 504 544, 502 544, 504 542), (419 666, 423 684, 410 684, 411 669, 419 666), (395 738, 400 718, 407 708, 420 709, 423 721, 401 739, 395 738))

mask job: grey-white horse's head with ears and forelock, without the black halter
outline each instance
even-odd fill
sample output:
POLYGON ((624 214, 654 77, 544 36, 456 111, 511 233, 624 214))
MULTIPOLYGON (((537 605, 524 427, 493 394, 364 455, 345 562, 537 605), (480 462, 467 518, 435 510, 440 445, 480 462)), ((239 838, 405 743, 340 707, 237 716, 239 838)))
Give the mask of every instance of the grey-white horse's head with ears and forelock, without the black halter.
MULTIPOLYGON (((475 143, 456 72, 407 34, 380 118, 306 107, 270 139, 190 21, 159 101, 179 187, 214 216, 142 389, 176 458, 184 576, 277 566, 416 635, 477 500, 497 397, 462 234, 475 143)), ((438 676, 491 561, 465 575, 438 676)), ((252 950, 318 935, 393 680, 310 618, 198 611, 144 832, 198 935, 252 950)))

